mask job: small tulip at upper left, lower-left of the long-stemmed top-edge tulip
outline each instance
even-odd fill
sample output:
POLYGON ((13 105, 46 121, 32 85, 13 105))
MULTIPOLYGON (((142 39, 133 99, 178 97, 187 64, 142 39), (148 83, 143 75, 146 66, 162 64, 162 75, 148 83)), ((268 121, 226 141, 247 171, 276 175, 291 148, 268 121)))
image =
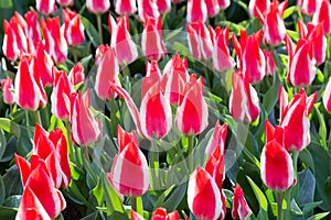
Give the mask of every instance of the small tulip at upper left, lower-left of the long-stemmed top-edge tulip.
POLYGON ((68 8, 62 11, 64 20, 64 37, 68 45, 76 46, 84 42, 84 25, 79 14, 68 8))

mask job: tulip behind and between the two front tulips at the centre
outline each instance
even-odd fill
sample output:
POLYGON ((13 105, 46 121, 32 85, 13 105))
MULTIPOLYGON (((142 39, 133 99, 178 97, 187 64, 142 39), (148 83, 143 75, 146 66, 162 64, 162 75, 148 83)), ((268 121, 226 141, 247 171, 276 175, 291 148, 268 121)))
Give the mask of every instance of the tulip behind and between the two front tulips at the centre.
POLYGON ((172 105, 179 105, 183 99, 185 82, 190 80, 188 61, 181 59, 175 53, 163 69, 162 87, 164 94, 172 105))

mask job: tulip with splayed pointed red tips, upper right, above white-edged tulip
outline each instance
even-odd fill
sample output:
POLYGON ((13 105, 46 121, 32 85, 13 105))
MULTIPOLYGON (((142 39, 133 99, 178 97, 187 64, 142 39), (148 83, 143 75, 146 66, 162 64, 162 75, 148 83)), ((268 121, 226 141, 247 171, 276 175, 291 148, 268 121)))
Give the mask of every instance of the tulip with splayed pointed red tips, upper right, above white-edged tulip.
POLYGON ((250 84, 259 82, 266 75, 266 57, 259 48, 263 32, 247 36, 246 31, 241 31, 241 40, 233 34, 233 44, 238 56, 238 67, 248 78, 250 84))

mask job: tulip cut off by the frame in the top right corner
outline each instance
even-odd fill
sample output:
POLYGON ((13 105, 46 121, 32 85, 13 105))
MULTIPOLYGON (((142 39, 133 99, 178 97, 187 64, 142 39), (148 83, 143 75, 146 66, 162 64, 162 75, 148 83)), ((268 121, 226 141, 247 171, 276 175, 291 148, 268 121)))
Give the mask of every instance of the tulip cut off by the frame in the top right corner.
POLYGON ((331 4, 329 0, 322 0, 312 16, 312 23, 318 25, 323 23, 325 34, 331 34, 331 4))

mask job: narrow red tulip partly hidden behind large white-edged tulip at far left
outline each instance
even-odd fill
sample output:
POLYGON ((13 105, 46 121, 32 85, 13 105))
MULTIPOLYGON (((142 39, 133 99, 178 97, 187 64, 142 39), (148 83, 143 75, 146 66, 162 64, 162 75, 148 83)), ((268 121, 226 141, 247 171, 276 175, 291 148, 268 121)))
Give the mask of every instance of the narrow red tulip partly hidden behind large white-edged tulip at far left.
POLYGON ((40 78, 44 87, 53 86, 54 76, 53 76, 53 66, 54 63, 51 56, 45 51, 45 47, 41 40, 36 42, 34 51, 34 72, 40 73, 40 78))

